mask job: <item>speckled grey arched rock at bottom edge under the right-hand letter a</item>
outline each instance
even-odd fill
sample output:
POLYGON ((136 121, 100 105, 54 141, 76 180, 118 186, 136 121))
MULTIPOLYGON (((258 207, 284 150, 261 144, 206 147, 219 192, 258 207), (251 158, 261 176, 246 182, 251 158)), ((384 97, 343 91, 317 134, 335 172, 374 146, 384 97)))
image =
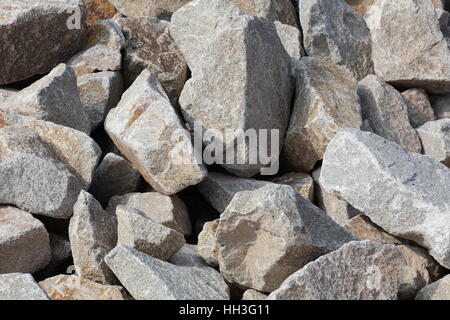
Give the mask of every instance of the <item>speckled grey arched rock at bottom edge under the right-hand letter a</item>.
POLYGON ((396 300, 404 264, 393 245, 350 242, 291 275, 269 299, 396 300))

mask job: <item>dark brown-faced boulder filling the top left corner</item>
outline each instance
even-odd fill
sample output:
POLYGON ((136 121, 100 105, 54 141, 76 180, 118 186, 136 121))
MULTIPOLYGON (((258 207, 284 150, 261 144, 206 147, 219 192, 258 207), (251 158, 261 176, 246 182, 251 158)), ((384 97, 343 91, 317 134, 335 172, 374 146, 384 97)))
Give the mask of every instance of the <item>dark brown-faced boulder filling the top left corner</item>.
POLYGON ((79 0, 5 0, 0 16, 0 85, 49 72, 78 52, 86 36, 86 6, 79 0))

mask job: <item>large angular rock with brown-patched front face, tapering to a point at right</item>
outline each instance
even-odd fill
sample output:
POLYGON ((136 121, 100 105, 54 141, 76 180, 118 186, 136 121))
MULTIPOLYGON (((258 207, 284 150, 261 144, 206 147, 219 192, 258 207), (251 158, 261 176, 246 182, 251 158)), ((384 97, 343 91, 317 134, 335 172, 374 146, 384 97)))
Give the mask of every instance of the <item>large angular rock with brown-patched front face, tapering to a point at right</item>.
POLYGON ((276 184, 237 193, 220 217, 216 237, 224 278, 262 292, 354 240, 292 187, 276 184))

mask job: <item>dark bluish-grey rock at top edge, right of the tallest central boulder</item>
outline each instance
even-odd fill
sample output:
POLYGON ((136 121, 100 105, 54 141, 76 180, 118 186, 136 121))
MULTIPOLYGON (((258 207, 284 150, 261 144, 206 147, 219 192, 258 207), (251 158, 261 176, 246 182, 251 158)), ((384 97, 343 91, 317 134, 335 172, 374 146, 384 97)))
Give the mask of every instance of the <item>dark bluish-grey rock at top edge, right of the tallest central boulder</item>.
POLYGON ((369 29, 344 1, 302 0, 299 11, 308 56, 343 66, 357 80, 373 72, 369 29))

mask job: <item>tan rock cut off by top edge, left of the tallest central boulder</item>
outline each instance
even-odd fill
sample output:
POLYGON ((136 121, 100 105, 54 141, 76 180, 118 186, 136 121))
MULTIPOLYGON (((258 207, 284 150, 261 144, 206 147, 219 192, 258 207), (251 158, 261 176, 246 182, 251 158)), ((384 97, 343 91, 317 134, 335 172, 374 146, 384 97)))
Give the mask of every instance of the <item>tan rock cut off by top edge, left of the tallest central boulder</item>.
POLYGON ((109 0, 120 13, 170 20, 172 14, 191 0, 109 0))

